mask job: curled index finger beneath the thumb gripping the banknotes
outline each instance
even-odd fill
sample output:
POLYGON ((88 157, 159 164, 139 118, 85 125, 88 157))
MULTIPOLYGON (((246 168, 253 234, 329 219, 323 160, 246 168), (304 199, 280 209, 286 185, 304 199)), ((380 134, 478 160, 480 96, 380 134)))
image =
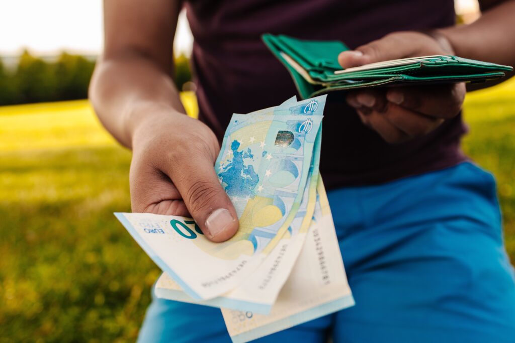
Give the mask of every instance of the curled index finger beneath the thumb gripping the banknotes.
POLYGON ((132 165, 129 174, 132 211, 190 216, 169 177, 148 165, 142 167, 132 165))

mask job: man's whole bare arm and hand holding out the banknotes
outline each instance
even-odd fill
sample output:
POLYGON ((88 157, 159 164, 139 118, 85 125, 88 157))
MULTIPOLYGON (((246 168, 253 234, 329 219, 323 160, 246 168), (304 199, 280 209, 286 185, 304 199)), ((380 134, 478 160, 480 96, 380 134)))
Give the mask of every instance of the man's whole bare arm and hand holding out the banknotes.
POLYGON ((173 41, 182 2, 104 2, 104 54, 90 84, 98 118, 132 148, 132 210, 193 216, 215 242, 231 238, 238 220, 213 168, 218 141, 188 118, 173 75, 173 41))

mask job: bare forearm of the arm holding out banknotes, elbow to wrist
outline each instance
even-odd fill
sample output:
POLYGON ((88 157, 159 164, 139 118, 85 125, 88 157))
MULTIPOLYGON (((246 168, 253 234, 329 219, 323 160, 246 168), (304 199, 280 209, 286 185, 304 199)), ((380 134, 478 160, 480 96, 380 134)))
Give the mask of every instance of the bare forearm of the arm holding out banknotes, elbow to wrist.
POLYGON ((91 80, 90 100, 102 124, 128 148, 142 120, 185 113, 171 77, 139 55, 101 59, 91 80), (158 111, 162 107, 171 111, 158 111))

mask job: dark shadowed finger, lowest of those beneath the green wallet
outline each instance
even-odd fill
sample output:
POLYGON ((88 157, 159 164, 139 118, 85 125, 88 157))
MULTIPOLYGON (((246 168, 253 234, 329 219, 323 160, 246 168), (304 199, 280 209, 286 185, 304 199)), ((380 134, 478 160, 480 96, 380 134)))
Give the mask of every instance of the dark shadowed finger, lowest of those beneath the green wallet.
POLYGON ((442 122, 441 118, 427 117, 420 113, 404 109, 395 104, 388 106, 384 118, 409 137, 423 136, 435 130, 442 122))

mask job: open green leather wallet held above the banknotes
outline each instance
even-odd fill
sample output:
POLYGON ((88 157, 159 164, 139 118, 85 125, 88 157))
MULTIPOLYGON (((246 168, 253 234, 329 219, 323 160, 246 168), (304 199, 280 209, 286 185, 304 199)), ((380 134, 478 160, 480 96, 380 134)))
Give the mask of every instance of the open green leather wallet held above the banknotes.
POLYGON ((342 69, 339 41, 304 41, 263 34, 263 41, 288 69, 303 99, 345 89, 405 84, 485 82, 513 67, 456 56, 423 56, 342 69))

